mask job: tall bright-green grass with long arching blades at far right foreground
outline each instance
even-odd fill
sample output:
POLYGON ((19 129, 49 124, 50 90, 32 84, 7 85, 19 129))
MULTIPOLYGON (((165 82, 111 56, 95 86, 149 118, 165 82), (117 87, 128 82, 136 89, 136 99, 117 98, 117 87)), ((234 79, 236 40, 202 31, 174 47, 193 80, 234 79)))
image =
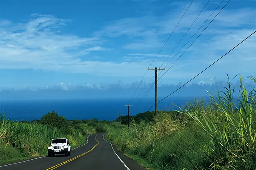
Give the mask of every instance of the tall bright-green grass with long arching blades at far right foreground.
POLYGON ((183 112, 211 139, 207 150, 211 169, 256 169, 255 110, 252 109, 255 101, 248 96, 241 76, 238 107, 234 105, 234 89, 231 89, 229 81, 225 89, 222 92, 224 96, 218 95, 217 100, 209 93, 212 109, 193 112, 186 109, 183 112))

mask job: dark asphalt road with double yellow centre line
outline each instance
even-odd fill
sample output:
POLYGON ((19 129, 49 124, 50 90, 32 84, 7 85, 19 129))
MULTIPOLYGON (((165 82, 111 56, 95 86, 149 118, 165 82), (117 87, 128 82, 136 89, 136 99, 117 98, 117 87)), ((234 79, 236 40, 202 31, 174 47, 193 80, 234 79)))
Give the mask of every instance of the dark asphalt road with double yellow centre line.
POLYGON ((71 156, 56 155, 0 166, 0 170, 145 170, 104 139, 106 133, 88 136, 88 142, 71 150, 71 156))

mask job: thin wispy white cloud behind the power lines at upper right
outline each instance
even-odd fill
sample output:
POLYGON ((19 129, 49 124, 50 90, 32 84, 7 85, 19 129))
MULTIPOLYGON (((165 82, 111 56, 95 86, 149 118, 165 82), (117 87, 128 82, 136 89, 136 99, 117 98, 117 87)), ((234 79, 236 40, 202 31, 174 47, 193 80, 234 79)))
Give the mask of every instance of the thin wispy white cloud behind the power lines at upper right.
MULTIPOLYGON (((173 45, 178 43, 176 38, 177 34, 184 34, 194 22, 204 5, 207 1, 194 1, 187 11, 184 18, 181 20, 180 24, 176 28, 174 34, 165 45, 165 49, 172 48, 173 45), (173 43, 174 42, 174 43, 173 43), (173 43, 172 45, 169 45, 173 43)), ((198 30, 198 28, 205 22, 205 20, 212 14, 214 9, 219 5, 220 1, 210 2, 206 8, 203 10, 201 15, 198 17, 190 31, 188 32, 188 36, 191 36, 198 30), (211 6, 211 7, 209 7, 211 6), (210 10, 208 9, 210 8, 210 10)), ((230 2, 236 3, 236 2, 230 2)), ((123 45, 124 49, 129 50, 148 50, 148 49, 160 49, 164 42, 167 40, 168 36, 172 33, 176 24, 179 22, 180 18, 188 8, 190 2, 182 2, 182 3, 172 3, 170 8, 174 8, 170 12, 162 16, 156 16, 154 14, 148 14, 147 16, 134 17, 134 18, 122 18, 120 20, 116 20, 114 22, 108 23, 106 26, 102 28, 100 32, 95 32, 95 35, 100 35, 104 37, 118 37, 118 36, 127 36, 132 38, 132 42, 128 42, 123 45)), ((208 22, 204 24, 201 28, 205 28, 207 24, 216 16, 216 14, 220 11, 220 9, 226 4, 223 2, 218 10, 214 12, 214 14, 210 17, 208 22)), ((255 28, 255 8, 238 8, 231 9, 229 5, 220 12, 220 14, 214 19, 214 21, 210 24, 209 28, 203 34, 216 34, 215 32, 211 32, 212 28, 216 28, 219 31, 230 29, 240 29, 242 28, 255 28)), ((201 32, 199 31, 198 34, 201 32)), ((186 40, 185 37, 185 40, 186 40)))

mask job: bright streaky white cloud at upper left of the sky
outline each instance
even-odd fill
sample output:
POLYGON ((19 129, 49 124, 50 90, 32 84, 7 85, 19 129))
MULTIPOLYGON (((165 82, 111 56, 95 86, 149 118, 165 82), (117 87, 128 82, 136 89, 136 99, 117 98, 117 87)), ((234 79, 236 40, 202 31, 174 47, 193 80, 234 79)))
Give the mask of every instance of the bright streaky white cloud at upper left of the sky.
POLYGON ((0 28, 2 69, 44 69, 47 64, 76 61, 88 54, 80 47, 102 44, 100 38, 61 34, 67 20, 49 15, 32 15, 26 23, 4 22, 0 28), (58 32, 56 31, 58 30, 58 32))

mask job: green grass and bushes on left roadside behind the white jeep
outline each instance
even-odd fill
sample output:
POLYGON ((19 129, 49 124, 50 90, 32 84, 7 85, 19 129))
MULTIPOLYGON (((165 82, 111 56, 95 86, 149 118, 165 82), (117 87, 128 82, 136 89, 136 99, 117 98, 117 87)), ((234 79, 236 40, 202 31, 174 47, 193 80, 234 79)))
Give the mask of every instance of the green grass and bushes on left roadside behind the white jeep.
POLYGON ((52 111, 41 120, 15 122, 0 115, 0 164, 47 154, 52 138, 69 138, 74 148, 85 143, 88 134, 103 132, 97 119, 66 120, 52 111))

